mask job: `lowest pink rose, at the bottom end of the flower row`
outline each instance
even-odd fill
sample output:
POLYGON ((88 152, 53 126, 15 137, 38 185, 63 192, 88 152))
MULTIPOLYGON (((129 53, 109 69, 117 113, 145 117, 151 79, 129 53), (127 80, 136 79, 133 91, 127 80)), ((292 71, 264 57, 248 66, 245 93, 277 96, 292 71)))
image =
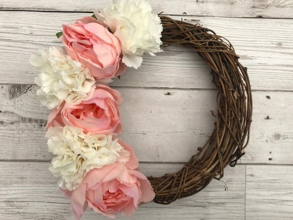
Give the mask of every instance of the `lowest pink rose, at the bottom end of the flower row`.
POLYGON ((155 194, 149 181, 141 172, 132 170, 138 167, 132 148, 121 140, 119 143, 132 152, 128 163, 114 163, 93 169, 87 173, 79 188, 63 191, 71 200, 76 220, 80 219, 87 207, 110 218, 115 218, 116 213, 132 216, 140 203, 153 200, 155 194))

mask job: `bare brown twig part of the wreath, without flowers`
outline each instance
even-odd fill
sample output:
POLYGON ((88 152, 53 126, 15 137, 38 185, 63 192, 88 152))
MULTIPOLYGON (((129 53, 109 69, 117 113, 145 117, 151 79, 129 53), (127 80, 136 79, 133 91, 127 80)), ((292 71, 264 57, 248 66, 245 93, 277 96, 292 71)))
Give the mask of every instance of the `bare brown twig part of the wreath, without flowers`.
MULTIPOLYGON (((170 204, 200 192, 224 168, 235 166, 244 155, 252 121, 252 95, 247 68, 243 67, 231 43, 199 24, 173 20, 159 15, 164 46, 178 45, 197 52, 210 66, 218 89, 215 127, 206 143, 197 148, 184 167, 173 174, 148 177, 154 188, 154 202, 170 204)), ((183 146, 182 146, 183 147, 183 146)))

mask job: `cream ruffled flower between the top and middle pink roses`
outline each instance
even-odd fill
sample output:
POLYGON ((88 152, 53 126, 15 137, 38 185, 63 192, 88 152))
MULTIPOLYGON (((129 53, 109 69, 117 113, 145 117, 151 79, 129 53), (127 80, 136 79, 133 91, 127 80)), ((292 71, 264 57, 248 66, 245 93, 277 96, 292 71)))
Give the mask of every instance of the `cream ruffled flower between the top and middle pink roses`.
POLYGON ((41 71, 35 83, 41 87, 37 95, 47 108, 53 109, 63 100, 79 104, 93 95, 95 79, 88 69, 69 56, 62 55, 59 49, 51 47, 36 51, 29 63, 41 71))

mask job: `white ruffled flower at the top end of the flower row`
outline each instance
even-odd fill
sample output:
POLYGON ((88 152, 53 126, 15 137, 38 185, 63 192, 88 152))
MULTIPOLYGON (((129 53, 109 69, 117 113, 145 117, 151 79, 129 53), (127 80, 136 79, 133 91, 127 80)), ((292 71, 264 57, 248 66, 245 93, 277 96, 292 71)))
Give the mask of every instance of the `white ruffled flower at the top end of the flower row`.
POLYGON ((151 7, 145 0, 113 2, 102 12, 95 11, 95 15, 119 39, 124 54, 122 61, 137 69, 143 62, 144 52, 154 56, 160 51, 161 20, 157 14, 151 13, 151 7))

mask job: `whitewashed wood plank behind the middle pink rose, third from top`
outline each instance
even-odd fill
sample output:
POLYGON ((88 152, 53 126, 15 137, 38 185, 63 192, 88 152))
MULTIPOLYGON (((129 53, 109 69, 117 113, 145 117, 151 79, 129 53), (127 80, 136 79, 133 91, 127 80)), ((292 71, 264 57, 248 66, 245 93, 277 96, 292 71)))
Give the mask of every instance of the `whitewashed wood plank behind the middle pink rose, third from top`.
MULTIPOLYGON (((49 110, 38 103, 36 87, 0 88, 0 160, 50 160, 43 126, 49 110)), ((187 161, 213 130, 216 91, 118 90, 121 137, 140 161, 187 161)), ((253 98, 251 139, 241 162, 293 164, 293 93, 259 91, 253 98)))

